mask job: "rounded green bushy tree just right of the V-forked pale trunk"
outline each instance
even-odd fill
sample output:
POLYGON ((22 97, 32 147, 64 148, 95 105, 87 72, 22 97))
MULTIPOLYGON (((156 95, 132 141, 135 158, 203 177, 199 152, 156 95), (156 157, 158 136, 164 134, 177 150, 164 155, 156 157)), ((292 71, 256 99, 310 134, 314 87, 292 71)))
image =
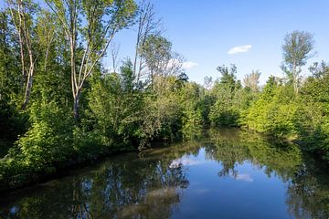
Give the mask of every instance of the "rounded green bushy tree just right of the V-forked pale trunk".
POLYGON ((129 145, 140 137, 143 96, 133 90, 130 61, 124 64, 121 74, 107 74, 91 84, 89 109, 89 123, 101 134, 103 145, 129 145))

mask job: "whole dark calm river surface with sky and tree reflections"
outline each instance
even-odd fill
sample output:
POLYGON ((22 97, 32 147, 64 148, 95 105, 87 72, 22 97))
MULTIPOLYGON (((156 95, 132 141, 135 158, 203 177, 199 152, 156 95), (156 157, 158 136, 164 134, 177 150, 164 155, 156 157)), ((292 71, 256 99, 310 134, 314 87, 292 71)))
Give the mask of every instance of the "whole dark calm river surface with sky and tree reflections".
POLYGON ((328 172, 296 145, 201 136, 0 196, 0 218, 329 218, 328 172))

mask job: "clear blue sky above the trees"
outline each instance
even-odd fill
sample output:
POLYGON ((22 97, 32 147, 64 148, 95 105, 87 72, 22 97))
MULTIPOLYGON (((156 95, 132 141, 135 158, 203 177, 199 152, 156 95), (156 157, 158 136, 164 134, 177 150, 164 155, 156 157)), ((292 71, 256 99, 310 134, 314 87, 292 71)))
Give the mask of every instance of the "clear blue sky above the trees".
MULTIPOLYGON (((237 65, 239 79, 252 69, 262 72, 260 84, 270 75, 281 76, 283 37, 297 29, 314 35, 316 55, 308 65, 329 61, 328 0, 154 0, 154 5, 164 36, 195 63, 186 74, 201 84, 205 76, 218 78, 216 68, 230 63, 237 65), (247 51, 228 54, 239 46, 247 51)), ((122 31, 115 40, 120 57, 133 57, 134 30, 122 31)), ((111 65, 110 58, 104 61, 111 65)))

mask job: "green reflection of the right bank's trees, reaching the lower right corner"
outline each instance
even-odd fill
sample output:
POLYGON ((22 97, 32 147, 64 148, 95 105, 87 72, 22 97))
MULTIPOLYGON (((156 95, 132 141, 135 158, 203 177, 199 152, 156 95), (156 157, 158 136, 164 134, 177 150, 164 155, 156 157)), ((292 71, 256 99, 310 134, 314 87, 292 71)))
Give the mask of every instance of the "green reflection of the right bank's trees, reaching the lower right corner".
POLYGON ((268 141, 242 130, 210 130, 207 159, 220 163, 219 177, 237 178, 238 164, 251 162, 288 183, 288 211, 296 218, 329 218, 329 178, 292 143, 268 141), (318 170, 316 172, 316 170, 318 170))

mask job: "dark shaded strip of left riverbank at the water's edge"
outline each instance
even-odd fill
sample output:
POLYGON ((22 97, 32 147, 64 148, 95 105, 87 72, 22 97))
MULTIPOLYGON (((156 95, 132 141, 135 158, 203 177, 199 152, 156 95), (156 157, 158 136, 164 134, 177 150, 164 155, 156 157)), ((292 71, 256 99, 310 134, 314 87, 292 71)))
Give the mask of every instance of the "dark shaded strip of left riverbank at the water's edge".
MULTIPOLYGON (((180 140, 175 139, 172 141, 180 140)), ((152 142, 152 147, 164 146, 168 142, 171 141, 155 140, 152 142)), ((80 151, 71 151, 64 161, 42 163, 43 166, 39 166, 38 169, 34 168, 33 165, 28 165, 28 163, 20 162, 19 157, 13 159, 13 157, 9 157, 7 154, 7 156, 0 159, 0 193, 10 193, 36 183, 45 183, 65 175, 68 169, 80 169, 81 167, 95 162, 101 162, 103 159, 115 155, 141 151, 141 149, 133 145, 125 145, 123 147, 117 144, 109 147, 105 145, 85 144, 84 146, 85 148, 80 147, 80 151)), ((15 154, 15 148, 12 148, 10 152, 15 154)))

